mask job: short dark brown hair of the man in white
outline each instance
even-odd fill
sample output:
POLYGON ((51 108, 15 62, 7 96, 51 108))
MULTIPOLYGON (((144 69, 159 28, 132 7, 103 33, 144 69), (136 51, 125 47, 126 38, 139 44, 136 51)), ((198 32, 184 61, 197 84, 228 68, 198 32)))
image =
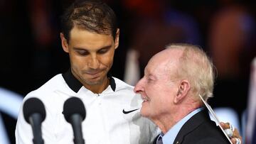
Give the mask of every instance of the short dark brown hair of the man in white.
POLYGON ((61 16, 61 31, 68 42, 74 26, 94 33, 112 35, 115 39, 117 17, 103 1, 77 0, 61 16))

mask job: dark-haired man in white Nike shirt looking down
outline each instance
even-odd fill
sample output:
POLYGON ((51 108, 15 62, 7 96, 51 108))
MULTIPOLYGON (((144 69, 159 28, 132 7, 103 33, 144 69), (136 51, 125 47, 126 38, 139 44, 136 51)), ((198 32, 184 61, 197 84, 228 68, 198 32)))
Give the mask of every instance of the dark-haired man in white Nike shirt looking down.
MULTIPOLYGON (((73 143, 73 129, 62 114, 70 96, 82 99, 86 107, 82 122, 85 143, 151 143, 159 131, 140 115, 142 99, 132 86, 107 74, 119 45, 114 11, 102 1, 75 1, 62 16, 60 38, 70 56, 70 70, 57 74, 23 100, 36 97, 43 101, 45 143, 73 143)), ((32 138, 31 126, 20 111, 16 143, 29 144, 32 138)))

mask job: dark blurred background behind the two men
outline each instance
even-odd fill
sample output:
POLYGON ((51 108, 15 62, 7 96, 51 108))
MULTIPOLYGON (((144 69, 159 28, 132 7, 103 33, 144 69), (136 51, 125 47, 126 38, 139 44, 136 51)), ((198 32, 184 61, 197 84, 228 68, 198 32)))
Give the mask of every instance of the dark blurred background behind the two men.
MULTIPOLYGON (((60 45, 60 15, 72 1, 0 1, 0 87, 26 96, 68 70, 60 45)), ((255 2, 232 0, 108 0, 117 13, 119 48, 112 75, 124 79, 127 50, 140 52, 140 70, 168 43, 201 45, 218 71, 213 107, 246 109, 255 57, 255 2), (236 17, 237 16, 237 17, 236 17), (234 38, 233 38, 234 37, 234 38)), ((0 99, 3 101, 2 99, 0 99)), ((16 120, 1 112, 11 143, 16 120)))

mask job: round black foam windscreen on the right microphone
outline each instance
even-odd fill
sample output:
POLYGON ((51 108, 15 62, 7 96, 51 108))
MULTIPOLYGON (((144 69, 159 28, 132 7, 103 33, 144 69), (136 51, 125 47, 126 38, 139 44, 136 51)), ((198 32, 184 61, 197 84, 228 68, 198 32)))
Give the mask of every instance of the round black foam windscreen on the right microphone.
POLYGON ((71 97, 67 99, 64 103, 63 106, 63 114, 65 117, 65 120, 70 123, 70 116, 73 115, 74 113, 80 114, 82 117, 82 121, 85 119, 85 106, 82 103, 82 100, 79 99, 78 97, 71 97))

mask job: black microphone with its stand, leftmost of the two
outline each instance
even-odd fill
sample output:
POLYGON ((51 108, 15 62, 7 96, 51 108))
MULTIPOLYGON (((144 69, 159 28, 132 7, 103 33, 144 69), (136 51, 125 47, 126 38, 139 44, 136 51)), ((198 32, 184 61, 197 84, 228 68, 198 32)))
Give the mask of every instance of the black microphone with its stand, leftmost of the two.
POLYGON ((41 123, 46 118, 46 109, 43 102, 37 98, 27 99, 23 104, 23 116, 30 123, 33 131, 33 143, 43 144, 41 123))

